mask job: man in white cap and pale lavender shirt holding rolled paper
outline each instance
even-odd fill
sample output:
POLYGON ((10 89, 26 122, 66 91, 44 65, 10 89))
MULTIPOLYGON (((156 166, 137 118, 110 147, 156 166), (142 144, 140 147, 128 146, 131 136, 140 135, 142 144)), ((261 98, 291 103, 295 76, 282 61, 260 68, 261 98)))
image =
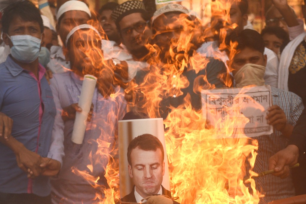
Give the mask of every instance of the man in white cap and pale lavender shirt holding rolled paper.
POLYGON ((70 62, 71 71, 54 74, 50 81, 58 110, 52 142, 58 144, 61 155, 65 155, 58 177, 51 180, 51 198, 54 204, 103 201, 104 189, 101 186, 107 186, 104 169, 110 154, 113 154, 117 121, 125 114, 126 103, 123 90, 112 83, 112 68, 103 64, 101 44, 101 36, 96 28, 88 24, 73 28, 65 40, 66 59, 70 62), (74 119, 64 121, 62 110, 79 101, 85 74, 96 76, 98 80, 92 100, 92 117, 87 122, 83 143, 79 145, 71 141, 74 119), (98 143, 108 145, 101 147, 98 143), (92 165, 92 169, 88 169, 89 165, 92 165), (93 187, 86 178, 77 174, 78 170, 87 171, 95 178, 99 176, 101 186, 93 187))

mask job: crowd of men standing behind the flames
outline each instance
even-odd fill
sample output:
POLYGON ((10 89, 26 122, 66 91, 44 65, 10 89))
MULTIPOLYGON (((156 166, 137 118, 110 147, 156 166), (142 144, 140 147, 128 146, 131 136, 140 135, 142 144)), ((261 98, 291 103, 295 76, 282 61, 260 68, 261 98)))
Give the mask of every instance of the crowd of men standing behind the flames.
MULTIPOLYGON (((75 169, 88 170, 91 155, 99 163, 90 175, 107 188, 109 158, 96 155, 98 141, 118 149, 117 124, 125 113, 166 119, 186 101, 200 111, 201 89, 265 84, 274 133, 255 137, 254 171, 275 173, 256 180, 265 194, 260 202, 306 194, 306 32, 287 1, 272 2, 259 34, 244 29, 247 0, 233 1, 228 12, 212 7, 209 26, 175 3, 152 13, 139 0, 108 2, 94 13, 77 0, 58 1, 56 9, 47 1, 39 8, 8 1, 1 17, 0 204, 103 200, 103 189, 75 169), (86 74, 97 85, 77 145, 71 135, 86 74), (175 87, 176 77, 188 82, 175 87), (155 87, 164 89, 152 95, 155 87), (289 172, 297 161, 301 166, 289 172)), ((116 158, 116 151, 110 154, 116 158)))

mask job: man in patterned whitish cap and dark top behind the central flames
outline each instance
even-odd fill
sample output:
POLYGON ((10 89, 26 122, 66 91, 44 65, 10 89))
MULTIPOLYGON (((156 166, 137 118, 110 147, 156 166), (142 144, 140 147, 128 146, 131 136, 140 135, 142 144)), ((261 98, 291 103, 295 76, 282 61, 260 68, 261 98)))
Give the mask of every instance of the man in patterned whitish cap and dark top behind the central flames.
POLYGON ((202 106, 202 88, 226 87, 227 72, 224 63, 212 57, 203 57, 192 49, 189 40, 192 39, 193 27, 190 22, 188 9, 184 6, 168 4, 158 9, 152 17, 152 44, 156 48, 156 61, 148 69, 139 71, 135 77, 139 85, 138 93, 144 94, 144 97, 136 98, 138 106, 147 98, 146 86, 169 86, 169 89, 162 90, 159 106, 155 107, 159 109, 157 116, 164 119, 171 107, 182 105, 189 96, 192 108, 199 111, 202 106), (146 78, 150 79, 144 80, 146 78), (175 80, 181 80, 180 87, 171 85, 171 81, 175 80))

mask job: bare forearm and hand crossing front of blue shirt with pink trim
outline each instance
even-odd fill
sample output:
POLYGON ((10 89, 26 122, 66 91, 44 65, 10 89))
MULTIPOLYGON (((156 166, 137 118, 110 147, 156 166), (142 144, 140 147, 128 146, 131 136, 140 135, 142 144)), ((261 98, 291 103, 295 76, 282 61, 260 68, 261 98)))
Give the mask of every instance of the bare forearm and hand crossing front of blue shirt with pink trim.
POLYGON ((27 173, 32 171, 31 176, 34 177, 40 175, 41 169, 39 165, 43 162, 43 160, 38 154, 28 150, 21 142, 19 142, 14 137, 9 137, 9 139, 7 140, 0 137, 0 142, 8 146, 11 150, 13 150, 16 155, 18 167, 20 169, 27 173))

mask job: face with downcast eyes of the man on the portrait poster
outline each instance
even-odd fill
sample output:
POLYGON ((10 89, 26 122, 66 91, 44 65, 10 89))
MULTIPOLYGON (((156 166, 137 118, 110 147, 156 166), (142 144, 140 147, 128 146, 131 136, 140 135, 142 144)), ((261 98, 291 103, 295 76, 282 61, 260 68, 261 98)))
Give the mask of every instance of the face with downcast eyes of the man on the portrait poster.
POLYGON ((158 193, 164 173, 165 162, 159 148, 155 151, 145 151, 136 147, 131 151, 129 175, 136 191, 143 198, 158 193))

